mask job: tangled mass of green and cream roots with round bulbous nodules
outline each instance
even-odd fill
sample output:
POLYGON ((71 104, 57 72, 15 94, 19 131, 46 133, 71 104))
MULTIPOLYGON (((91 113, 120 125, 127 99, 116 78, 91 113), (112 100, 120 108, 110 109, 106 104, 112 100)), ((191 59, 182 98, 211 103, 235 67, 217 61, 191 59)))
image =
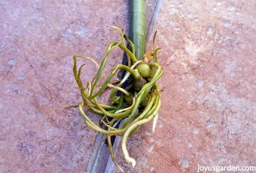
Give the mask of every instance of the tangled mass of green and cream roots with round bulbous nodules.
POLYGON ((119 42, 111 42, 109 44, 101 64, 96 63, 96 61, 90 57, 74 55, 73 72, 83 100, 76 105, 67 105, 64 107, 78 106, 85 123, 91 129, 106 134, 111 158, 115 165, 124 172, 117 164, 117 160, 115 160, 110 136, 123 136, 122 153, 124 154, 125 160, 134 167, 136 162, 134 158, 130 157, 126 148, 126 142, 128 137, 136 133, 141 125, 151 120, 153 120, 152 133, 154 133, 158 119, 158 111, 161 106, 161 90, 156 82, 163 75, 163 70, 160 64, 158 64, 157 58, 157 51, 160 50, 160 48, 154 48, 156 33, 153 39, 153 51, 146 53, 143 59, 139 61, 135 56, 134 44, 125 35, 123 29, 115 26, 109 26, 109 28, 117 29, 120 32, 121 38, 119 42), (126 47, 126 42, 130 45, 131 51, 126 47), (104 68, 109 53, 115 48, 120 48, 127 54, 128 65, 118 64, 115 70, 113 70, 109 76, 106 76, 104 68), (95 77, 86 85, 83 85, 80 79, 82 67, 85 64, 77 68, 78 58, 88 59, 98 67, 95 77), (120 80, 113 79, 113 76, 120 69, 125 70, 126 74, 124 77, 120 80), (104 77, 104 83, 98 83, 101 76, 104 77), (125 82, 128 82, 127 87, 124 87, 125 82), (102 94, 106 88, 112 89, 110 94, 112 102, 110 105, 101 104, 97 100, 97 96, 102 94), (108 129, 103 129, 91 121, 85 114, 83 107, 88 107, 93 112, 102 115, 100 124, 103 123, 108 129), (117 123, 124 118, 125 120, 122 127, 116 127, 117 123))

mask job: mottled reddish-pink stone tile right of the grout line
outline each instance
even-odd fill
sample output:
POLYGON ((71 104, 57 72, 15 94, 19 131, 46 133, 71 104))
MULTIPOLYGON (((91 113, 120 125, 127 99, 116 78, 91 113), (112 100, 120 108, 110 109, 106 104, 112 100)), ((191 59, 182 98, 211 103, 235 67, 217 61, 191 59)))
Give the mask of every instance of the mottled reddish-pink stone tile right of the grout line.
POLYGON ((119 149, 117 159, 128 172, 255 166, 255 6, 244 0, 163 2, 156 24, 164 69, 160 118, 154 135, 150 123, 128 139, 134 169, 119 149))

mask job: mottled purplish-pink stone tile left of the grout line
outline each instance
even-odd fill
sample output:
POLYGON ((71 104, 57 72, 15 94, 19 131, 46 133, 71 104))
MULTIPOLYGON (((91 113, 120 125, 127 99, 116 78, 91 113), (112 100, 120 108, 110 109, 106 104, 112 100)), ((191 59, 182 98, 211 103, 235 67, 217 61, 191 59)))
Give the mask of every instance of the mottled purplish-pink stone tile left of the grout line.
MULTIPOLYGON (((97 133, 85 126, 78 103, 72 56, 100 62, 128 28, 128 1, 0 2, 0 172, 85 172, 97 133)), ((114 52, 108 69, 121 63, 114 52)), ((84 80, 96 67, 87 62, 84 80), (86 71, 87 70, 87 71, 86 71)), ((105 98, 108 100, 108 98, 105 98)), ((95 122, 99 116, 88 114, 95 122)))

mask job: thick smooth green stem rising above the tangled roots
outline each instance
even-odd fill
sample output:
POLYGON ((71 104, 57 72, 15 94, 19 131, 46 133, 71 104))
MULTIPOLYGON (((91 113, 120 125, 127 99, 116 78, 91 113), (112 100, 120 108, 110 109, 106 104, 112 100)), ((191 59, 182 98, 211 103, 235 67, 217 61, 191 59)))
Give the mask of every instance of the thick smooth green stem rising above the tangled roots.
POLYGON ((145 54, 145 6, 145 0, 131 0, 130 40, 138 60, 145 54))

